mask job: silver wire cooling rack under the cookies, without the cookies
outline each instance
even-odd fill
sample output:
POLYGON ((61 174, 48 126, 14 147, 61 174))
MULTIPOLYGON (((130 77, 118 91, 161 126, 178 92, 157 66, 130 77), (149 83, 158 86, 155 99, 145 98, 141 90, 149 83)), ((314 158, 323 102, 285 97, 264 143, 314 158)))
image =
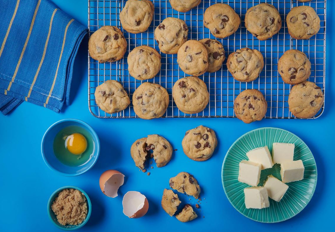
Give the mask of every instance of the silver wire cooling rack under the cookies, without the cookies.
MULTIPOLYGON (((126 0, 89 0, 89 35, 104 25, 113 25, 121 28, 128 42, 128 51, 125 57, 114 63, 98 63, 89 57, 89 111, 98 118, 134 118, 133 105, 118 113, 108 114, 101 110, 95 103, 95 88, 106 80, 121 82, 132 99, 135 89, 142 83, 135 80, 128 72, 127 56, 129 51, 140 45, 149 45, 159 51, 154 40, 154 30, 167 17, 175 17, 186 22, 189 28, 189 40, 201 40, 203 38, 215 39, 209 29, 203 26, 203 13, 212 4, 229 4, 240 15, 240 28, 233 35, 222 42, 225 56, 241 47, 249 47, 259 50, 264 56, 264 69, 260 77, 251 83, 236 81, 227 71, 225 62, 222 69, 215 73, 205 73, 200 76, 208 87, 210 100, 207 107, 198 114, 184 114, 181 112, 172 98, 173 84, 186 75, 177 63, 177 55, 161 53, 161 70, 154 79, 149 82, 157 83, 165 87, 169 93, 170 104, 163 117, 236 117, 234 114, 234 99, 245 89, 259 89, 268 102, 266 118, 294 118, 289 111, 288 98, 291 85, 285 84, 277 71, 279 58, 289 49, 303 51, 312 63, 312 74, 309 81, 316 83, 325 92, 325 59, 326 59, 326 0, 312 0, 311 2, 298 2, 297 0, 202 0, 200 5, 186 13, 172 9, 169 0, 152 0, 155 5, 153 21, 146 32, 131 34, 123 30, 119 13, 126 0), (247 32, 244 26, 246 10, 254 5, 267 2, 274 5, 282 18, 280 32, 267 41, 259 41, 247 32), (320 17, 321 28, 317 35, 310 40, 295 40, 290 37, 286 24, 286 16, 292 7, 309 5, 313 7, 320 17)), ((319 117, 321 110, 313 118, 319 117)))

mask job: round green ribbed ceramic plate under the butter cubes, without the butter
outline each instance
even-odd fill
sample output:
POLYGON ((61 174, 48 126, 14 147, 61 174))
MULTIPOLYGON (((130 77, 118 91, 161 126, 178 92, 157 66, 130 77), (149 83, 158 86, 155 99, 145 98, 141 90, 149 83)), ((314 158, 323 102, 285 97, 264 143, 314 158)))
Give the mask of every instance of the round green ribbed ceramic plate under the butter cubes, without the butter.
MULTIPOLYGON (((269 174, 280 178, 280 165, 276 164, 272 169, 261 172, 260 186, 263 185, 269 174)), ((234 208, 246 217, 265 223, 275 223, 290 219, 302 211, 310 202, 317 181, 317 169, 311 150, 296 135, 279 128, 259 128, 241 136, 229 148, 222 166, 222 184, 225 194, 234 208), (247 160, 246 152, 253 149, 268 146, 272 150, 272 144, 293 143, 294 160, 302 160, 305 166, 304 179, 287 183, 289 190, 280 202, 270 201, 270 207, 262 210, 246 209, 244 203, 244 189, 248 185, 238 182, 239 163, 247 160)))

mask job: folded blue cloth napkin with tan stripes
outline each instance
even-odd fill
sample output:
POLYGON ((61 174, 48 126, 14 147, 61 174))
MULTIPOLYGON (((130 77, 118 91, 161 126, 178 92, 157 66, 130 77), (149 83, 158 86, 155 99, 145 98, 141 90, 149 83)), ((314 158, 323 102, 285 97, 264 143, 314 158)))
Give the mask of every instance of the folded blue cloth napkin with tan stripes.
POLYGON ((48 0, 0 0, 0 110, 22 102, 59 112, 87 28, 48 0))

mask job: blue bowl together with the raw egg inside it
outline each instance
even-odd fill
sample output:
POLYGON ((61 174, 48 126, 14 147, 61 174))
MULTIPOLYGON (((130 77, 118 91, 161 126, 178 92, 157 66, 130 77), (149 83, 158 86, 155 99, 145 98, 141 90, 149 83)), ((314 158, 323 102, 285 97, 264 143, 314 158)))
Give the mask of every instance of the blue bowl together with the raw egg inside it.
POLYGON ((99 157, 100 142, 88 124, 63 119, 46 130, 41 150, 50 169, 61 175, 77 176, 93 167, 99 157))

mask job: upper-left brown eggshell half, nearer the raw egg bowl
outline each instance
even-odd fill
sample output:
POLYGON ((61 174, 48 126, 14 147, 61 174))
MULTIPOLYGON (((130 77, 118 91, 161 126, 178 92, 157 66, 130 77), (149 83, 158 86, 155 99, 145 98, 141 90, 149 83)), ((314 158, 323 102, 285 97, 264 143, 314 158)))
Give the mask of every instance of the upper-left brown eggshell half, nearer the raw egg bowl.
POLYGON ((117 190, 124 183, 124 175, 117 170, 107 170, 99 179, 101 191, 109 197, 117 197, 117 190))

